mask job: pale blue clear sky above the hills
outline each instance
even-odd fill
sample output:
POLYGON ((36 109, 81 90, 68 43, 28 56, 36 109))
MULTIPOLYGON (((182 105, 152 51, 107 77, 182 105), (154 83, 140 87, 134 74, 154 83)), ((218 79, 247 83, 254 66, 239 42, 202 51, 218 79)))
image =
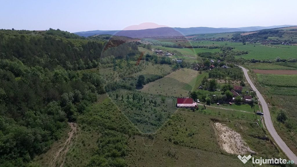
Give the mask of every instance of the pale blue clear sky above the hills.
POLYGON ((296 6, 296 0, 0 0, 0 29, 78 32, 145 29, 145 25, 297 25, 296 6), (153 24, 143 24, 147 22, 153 24))

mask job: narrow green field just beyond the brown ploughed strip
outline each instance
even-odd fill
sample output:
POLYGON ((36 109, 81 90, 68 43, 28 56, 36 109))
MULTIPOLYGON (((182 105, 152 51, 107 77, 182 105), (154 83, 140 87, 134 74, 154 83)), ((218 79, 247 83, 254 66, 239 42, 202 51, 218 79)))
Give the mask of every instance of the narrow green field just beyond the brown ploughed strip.
POLYGON ((248 68, 257 70, 297 70, 297 68, 288 67, 275 63, 250 63, 248 65, 248 68))

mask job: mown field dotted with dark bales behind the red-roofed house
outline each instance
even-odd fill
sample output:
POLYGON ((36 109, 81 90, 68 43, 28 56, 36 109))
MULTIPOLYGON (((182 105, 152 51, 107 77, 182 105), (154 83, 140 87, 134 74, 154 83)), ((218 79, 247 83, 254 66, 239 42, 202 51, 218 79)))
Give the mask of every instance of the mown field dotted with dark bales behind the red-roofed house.
POLYGON ((142 92, 162 94, 165 96, 185 97, 189 91, 196 89, 207 73, 180 69, 166 75, 164 78, 144 85, 142 92))

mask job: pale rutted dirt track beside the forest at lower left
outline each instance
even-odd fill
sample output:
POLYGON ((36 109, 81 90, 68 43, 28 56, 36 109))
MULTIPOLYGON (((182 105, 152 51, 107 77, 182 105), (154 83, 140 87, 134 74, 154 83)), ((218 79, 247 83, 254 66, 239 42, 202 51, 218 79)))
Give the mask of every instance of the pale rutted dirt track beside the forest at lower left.
POLYGON ((64 142, 64 144, 61 144, 59 151, 56 152, 56 155, 54 156, 53 160, 50 162, 50 167, 56 167, 59 162, 61 162, 60 167, 64 166, 65 156, 72 144, 73 138, 77 130, 77 124, 70 122, 69 125, 71 127, 71 131, 68 133, 68 138, 64 142))

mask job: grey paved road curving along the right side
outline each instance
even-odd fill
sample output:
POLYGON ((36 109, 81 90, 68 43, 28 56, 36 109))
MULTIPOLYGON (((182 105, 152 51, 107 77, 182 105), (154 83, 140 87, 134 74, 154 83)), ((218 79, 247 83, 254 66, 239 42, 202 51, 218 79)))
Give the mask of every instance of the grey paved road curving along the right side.
POLYGON ((257 93, 257 97, 259 98, 259 101, 262 105, 263 108, 263 113, 264 113, 264 118, 265 118, 265 125, 267 130, 269 131, 270 135, 273 137, 274 141, 277 143, 280 149, 287 155, 289 160, 293 160, 294 163, 297 163, 297 157, 296 155, 290 150, 290 148, 285 144, 285 142, 282 140, 282 138, 279 137, 277 132, 275 131, 272 121, 271 121, 271 116, 269 112, 268 105, 266 101, 264 100, 262 94, 257 90, 255 85, 252 83, 251 79, 249 78, 249 75, 247 74, 247 69, 244 67, 239 66, 245 75, 245 78, 247 79, 248 83, 251 85, 252 89, 257 93))

